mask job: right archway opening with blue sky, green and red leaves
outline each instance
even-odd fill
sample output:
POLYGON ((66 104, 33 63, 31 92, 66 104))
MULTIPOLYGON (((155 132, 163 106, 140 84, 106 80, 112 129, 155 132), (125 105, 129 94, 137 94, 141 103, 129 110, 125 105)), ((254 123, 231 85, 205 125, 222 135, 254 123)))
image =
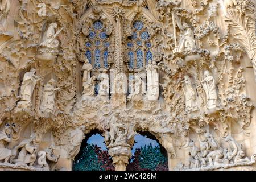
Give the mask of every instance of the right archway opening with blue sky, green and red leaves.
POLYGON ((134 137, 133 156, 127 171, 168 171, 167 151, 149 132, 139 132, 134 137))

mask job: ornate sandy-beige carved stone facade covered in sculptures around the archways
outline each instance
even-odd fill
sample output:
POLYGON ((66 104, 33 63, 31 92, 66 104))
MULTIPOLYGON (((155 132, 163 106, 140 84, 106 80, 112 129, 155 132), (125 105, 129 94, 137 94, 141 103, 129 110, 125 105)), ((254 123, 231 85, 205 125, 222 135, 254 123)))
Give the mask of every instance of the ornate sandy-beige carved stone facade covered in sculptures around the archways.
POLYGON ((0 170, 116 170, 153 134, 170 170, 256 169, 254 0, 2 0, 0 170))

